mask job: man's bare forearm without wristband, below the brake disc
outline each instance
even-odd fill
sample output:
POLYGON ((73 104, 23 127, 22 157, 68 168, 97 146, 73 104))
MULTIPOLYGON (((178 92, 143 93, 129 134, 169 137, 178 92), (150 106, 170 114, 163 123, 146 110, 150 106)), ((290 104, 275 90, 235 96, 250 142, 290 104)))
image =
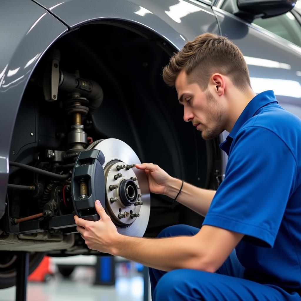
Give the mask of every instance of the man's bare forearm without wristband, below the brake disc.
POLYGON ((119 234, 111 253, 161 271, 177 268, 202 268, 200 246, 191 236, 140 238, 119 234))

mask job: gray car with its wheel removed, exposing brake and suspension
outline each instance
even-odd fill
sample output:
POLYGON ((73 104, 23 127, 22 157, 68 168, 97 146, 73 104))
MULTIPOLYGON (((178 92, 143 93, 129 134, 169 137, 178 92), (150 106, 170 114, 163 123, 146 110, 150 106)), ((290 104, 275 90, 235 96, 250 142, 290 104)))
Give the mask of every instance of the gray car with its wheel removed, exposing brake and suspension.
POLYGON ((73 220, 97 220, 96 198, 120 233, 155 237, 169 225, 200 227, 190 209, 150 194, 133 165, 153 162, 202 188, 223 180, 227 157, 219 143, 227 133, 204 141, 185 123, 162 68, 187 40, 225 35, 243 52, 253 90, 274 90, 301 117, 301 43, 256 24, 290 16, 295 3, 3 2, 0 287, 15 283, 17 251, 29 252, 30 270, 45 254, 99 255, 73 220))

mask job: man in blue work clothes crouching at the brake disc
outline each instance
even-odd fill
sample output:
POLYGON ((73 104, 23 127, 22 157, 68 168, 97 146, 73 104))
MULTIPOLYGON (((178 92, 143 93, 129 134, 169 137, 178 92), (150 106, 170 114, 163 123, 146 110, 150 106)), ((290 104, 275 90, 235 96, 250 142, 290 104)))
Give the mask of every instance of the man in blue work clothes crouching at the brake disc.
POLYGON ((153 300, 301 300, 301 120, 273 91, 256 95, 239 48, 205 33, 163 70, 204 139, 230 132, 217 191, 194 187, 152 163, 150 191, 205 216, 201 229, 175 225, 158 239, 121 235, 97 200, 97 222, 75 216, 90 249, 150 267, 153 300), (235 249, 234 249, 235 248, 235 249))

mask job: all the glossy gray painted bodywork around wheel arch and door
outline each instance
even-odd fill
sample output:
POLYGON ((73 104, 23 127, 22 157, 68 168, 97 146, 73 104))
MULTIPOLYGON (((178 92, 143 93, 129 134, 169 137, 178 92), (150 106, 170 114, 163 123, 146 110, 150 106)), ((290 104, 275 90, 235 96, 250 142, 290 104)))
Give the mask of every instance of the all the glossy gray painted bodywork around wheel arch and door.
POLYGON ((2 41, 10 37, 0 59, 0 114, 5 126, 0 146, 0 217, 5 208, 12 131, 24 89, 43 53, 68 29, 91 22, 128 22, 151 30, 175 50, 203 32, 222 33, 244 53, 255 92, 274 89, 282 105, 300 102, 301 48, 195 0, 27 0, 17 8, 10 2, 2 5, 0 16, 2 28, 7 29, 0 37, 2 41))

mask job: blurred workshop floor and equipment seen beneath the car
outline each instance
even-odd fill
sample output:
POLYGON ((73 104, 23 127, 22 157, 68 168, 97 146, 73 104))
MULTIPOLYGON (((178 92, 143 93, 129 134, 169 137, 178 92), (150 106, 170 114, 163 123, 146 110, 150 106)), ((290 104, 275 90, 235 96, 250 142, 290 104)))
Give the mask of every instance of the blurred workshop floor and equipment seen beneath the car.
MULTIPOLYGON (((1 301, 14 301, 16 287, 2 289, 1 301)), ((148 269, 113 256, 45 256, 29 275, 30 301, 149 301, 148 269)))

